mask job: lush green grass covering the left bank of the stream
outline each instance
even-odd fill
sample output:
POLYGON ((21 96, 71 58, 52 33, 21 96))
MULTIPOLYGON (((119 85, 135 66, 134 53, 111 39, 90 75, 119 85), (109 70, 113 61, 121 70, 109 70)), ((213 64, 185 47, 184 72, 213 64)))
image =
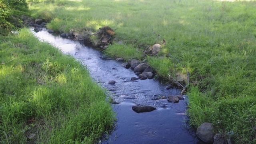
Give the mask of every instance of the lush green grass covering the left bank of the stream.
POLYGON ((0 143, 97 143, 115 120, 105 91, 72 56, 18 33, 0 36, 0 143))

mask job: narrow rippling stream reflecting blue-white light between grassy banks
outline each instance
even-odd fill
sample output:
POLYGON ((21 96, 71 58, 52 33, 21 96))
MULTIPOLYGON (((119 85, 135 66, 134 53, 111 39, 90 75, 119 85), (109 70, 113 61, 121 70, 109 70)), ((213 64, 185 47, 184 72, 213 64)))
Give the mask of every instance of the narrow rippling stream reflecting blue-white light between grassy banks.
POLYGON ((178 95, 180 89, 164 89, 167 85, 157 79, 135 80, 133 70, 120 66, 113 58, 104 56, 95 48, 83 46, 79 42, 53 36, 48 31, 33 32, 40 40, 50 42, 62 52, 72 55, 84 63, 91 77, 106 88, 114 101, 116 129, 102 144, 204 144, 195 131, 185 122, 186 100, 178 103, 158 99, 162 96, 178 95), (116 84, 108 84, 109 80, 116 84), (152 112, 136 113, 132 106, 153 106, 152 112))

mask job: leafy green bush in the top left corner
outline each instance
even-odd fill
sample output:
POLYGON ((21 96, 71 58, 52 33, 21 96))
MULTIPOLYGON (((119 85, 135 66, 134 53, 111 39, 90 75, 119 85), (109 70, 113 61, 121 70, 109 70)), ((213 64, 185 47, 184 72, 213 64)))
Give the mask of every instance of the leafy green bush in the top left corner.
POLYGON ((0 0, 0 34, 22 24, 22 17, 28 16, 26 0, 0 0))

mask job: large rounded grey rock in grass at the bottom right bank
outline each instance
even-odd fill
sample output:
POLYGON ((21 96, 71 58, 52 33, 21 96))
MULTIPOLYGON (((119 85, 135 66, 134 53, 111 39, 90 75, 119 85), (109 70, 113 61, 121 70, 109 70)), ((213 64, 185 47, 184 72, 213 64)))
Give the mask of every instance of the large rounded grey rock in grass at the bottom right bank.
POLYGON ((212 123, 204 122, 196 130, 196 135, 204 142, 213 143, 214 133, 212 131, 212 123))

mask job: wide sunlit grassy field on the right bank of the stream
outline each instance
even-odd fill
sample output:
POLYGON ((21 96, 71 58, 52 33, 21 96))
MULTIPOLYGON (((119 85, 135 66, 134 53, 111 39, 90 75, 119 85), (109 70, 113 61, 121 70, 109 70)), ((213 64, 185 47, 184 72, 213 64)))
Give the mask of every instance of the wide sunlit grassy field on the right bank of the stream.
POLYGON ((191 124, 212 122, 226 138, 256 143, 256 1, 27 1, 34 18, 57 32, 110 26, 122 40, 106 49, 110 56, 142 60, 164 38, 148 63, 166 79, 190 73, 191 124))

